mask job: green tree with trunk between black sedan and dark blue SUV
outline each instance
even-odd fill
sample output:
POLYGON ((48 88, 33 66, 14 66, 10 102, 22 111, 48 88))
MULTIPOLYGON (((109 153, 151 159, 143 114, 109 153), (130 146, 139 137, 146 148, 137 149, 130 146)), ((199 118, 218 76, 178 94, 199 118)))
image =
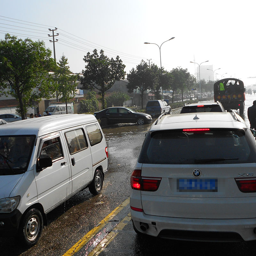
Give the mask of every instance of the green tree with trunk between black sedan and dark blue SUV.
POLYGON ((132 68, 129 74, 127 74, 127 80, 129 83, 126 85, 128 92, 133 92, 135 89, 139 89, 141 97, 141 109, 143 109, 143 96, 144 92, 153 87, 154 76, 148 68, 148 64, 141 60, 140 64, 136 67, 136 70, 132 68))

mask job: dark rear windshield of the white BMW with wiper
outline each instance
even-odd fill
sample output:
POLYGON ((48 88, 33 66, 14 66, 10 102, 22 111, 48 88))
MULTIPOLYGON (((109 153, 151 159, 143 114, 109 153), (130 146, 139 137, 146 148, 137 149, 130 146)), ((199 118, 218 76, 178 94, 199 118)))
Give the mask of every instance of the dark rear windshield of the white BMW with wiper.
POLYGON ((255 142, 249 133, 238 129, 155 131, 148 133, 138 161, 143 164, 255 163, 255 142))

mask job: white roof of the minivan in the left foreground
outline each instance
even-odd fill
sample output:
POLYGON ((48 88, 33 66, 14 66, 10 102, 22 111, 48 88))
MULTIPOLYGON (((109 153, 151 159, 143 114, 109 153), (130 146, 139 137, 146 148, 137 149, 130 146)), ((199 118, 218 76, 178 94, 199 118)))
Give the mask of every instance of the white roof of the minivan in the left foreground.
POLYGON ((96 117, 88 114, 36 117, 0 125, 0 135, 36 135, 36 137, 38 137, 72 126, 93 123, 95 121, 97 121, 96 117), (2 128, 1 126, 6 127, 2 128))

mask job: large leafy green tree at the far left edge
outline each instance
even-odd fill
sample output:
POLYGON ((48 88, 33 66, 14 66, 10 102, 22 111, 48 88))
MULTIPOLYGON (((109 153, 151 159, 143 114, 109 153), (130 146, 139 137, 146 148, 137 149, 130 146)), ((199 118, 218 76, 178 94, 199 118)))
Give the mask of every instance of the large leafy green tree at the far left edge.
POLYGON ((9 34, 0 41, 0 95, 18 100, 22 119, 26 119, 33 101, 54 96, 55 83, 48 75, 53 67, 51 50, 43 41, 17 39, 9 34))

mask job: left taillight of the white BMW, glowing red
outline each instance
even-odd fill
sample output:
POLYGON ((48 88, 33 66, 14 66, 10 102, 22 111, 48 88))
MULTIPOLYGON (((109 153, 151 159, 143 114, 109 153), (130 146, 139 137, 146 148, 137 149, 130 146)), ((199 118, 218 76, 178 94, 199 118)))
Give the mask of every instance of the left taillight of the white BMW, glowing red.
POLYGON ((141 170, 133 170, 131 176, 131 187, 141 191, 156 191, 159 188, 162 178, 141 177, 141 170))

